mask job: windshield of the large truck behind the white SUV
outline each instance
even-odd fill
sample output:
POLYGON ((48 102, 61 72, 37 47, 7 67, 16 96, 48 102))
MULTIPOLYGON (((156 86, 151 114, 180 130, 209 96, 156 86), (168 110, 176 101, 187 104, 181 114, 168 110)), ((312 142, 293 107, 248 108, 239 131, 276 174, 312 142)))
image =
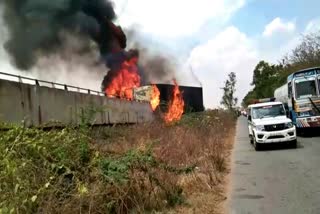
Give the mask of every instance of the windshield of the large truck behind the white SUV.
POLYGON ((317 95, 315 80, 297 80, 296 81, 297 99, 313 97, 317 95))

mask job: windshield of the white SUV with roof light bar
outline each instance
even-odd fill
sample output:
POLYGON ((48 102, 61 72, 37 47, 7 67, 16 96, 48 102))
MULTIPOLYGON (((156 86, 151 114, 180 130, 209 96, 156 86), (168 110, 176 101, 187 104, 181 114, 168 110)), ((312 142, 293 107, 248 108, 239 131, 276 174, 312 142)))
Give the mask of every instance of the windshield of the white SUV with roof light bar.
POLYGON ((285 116, 286 112, 283 108, 283 105, 268 105, 252 108, 252 118, 253 119, 262 119, 265 117, 277 117, 285 116))

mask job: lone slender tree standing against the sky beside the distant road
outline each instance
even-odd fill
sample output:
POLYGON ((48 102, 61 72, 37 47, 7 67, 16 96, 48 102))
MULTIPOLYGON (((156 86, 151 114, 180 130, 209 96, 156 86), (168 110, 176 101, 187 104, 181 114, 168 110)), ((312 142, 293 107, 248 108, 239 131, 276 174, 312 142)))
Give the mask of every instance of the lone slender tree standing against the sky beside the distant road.
POLYGON ((228 79, 225 81, 225 85, 222 88, 223 96, 221 105, 224 105, 228 110, 234 111, 238 103, 238 98, 235 97, 236 92, 236 74, 231 72, 228 74, 228 79))

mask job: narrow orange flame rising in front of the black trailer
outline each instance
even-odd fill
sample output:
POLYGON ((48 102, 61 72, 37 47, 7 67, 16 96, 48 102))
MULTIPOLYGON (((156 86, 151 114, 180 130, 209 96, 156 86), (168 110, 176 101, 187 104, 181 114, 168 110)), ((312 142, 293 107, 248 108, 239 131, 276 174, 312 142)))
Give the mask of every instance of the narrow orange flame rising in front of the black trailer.
POLYGON ((177 82, 175 80, 173 80, 173 82, 173 97, 169 103, 168 112, 164 116, 164 120, 167 123, 180 120, 184 110, 184 100, 182 97, 182 92, 180 91, 177 82))

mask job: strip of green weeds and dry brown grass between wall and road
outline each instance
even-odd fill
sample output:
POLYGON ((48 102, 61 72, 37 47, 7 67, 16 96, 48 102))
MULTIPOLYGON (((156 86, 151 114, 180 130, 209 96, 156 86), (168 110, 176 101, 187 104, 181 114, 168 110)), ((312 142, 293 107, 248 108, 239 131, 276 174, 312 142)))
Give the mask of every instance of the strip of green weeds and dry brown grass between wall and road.
POLYGON ((222 213, 235 119, 15 127, 0 136, 0 213, 222 213))

